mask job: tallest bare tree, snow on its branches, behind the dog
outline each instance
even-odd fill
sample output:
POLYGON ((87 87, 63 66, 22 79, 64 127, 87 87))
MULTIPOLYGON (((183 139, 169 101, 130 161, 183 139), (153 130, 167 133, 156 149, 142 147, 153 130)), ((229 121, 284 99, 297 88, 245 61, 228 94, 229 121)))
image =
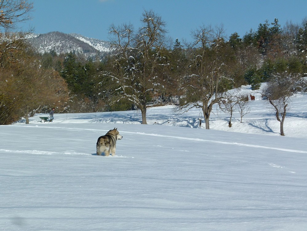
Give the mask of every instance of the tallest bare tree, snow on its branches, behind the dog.
POLYGON ((166 24, 159 15, 146 10, 141 21, 143 26, 136 34, 130 25, 111 26, 110 33, 116 38, 112 40, 113 46, 119 51, 112 72, 122 96, 141 110, 142 124, 147 124, 147 101, 157 89, 157 73, 164 62, 161 50, 166 24))

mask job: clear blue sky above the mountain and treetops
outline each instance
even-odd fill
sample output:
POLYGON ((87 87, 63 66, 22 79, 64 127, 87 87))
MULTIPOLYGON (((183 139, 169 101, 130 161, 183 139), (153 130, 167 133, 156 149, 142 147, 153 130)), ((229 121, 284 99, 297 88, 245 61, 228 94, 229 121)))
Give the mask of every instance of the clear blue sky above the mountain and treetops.
POLYGON ((153 10, 166 22, 168 36, 191 41, 191 31, 205 26, 223 24, 226 38, 237 32, 242 38, 259 23, 278 18, 283 27, 287 21, 301 24, 307 17, 306 0, 32 0, 33 19, 24 29, 34 27, 35 33, 60 31, 109 40, 108 29, 131 23, 142 24, 144 10, 153 10))

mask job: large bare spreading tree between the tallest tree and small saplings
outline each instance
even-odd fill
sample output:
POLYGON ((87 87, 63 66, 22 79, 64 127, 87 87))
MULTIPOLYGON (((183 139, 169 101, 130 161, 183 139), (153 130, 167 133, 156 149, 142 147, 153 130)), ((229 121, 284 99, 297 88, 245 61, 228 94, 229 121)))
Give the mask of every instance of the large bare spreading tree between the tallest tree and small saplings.
POLYGON ((205 127, 209 129, 209 117, 212 107, 223 99, 232 79, 228 77, 226 66, 231 55, 225 55, 227 46, 223 39, 223 28, 211 26, 193 32, 194 44, 191 49, 188 74, 181 79, 181 95, 178 109, 189 111, 201 108, 205 127))

